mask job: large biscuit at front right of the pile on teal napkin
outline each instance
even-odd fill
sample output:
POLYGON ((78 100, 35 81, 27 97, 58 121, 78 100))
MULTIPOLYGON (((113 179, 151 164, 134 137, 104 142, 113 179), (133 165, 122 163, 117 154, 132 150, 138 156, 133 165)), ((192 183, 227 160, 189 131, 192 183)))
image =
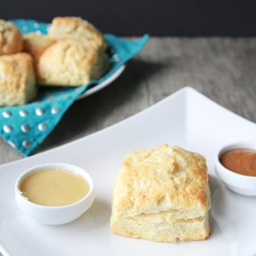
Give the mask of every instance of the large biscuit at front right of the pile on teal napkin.
POLYGON ((80 86, 100 79, 108 68, 103 50, 80 40, 58 40, 40 56, 37 78, 42 85, 80 86))

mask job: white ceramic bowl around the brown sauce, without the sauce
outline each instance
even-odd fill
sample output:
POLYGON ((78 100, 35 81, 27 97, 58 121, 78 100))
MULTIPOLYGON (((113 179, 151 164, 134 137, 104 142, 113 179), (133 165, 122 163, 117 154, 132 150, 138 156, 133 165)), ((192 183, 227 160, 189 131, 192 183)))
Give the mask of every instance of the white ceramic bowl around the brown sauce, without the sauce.
POLYGON ((256 195, 256 177, 238 174, 225 168, 220 162, 220 156, 235 148, 256 149, 256 142, 237 142, 222 147, 215 156, 216 175, 227 187, 241 195, 256 195))

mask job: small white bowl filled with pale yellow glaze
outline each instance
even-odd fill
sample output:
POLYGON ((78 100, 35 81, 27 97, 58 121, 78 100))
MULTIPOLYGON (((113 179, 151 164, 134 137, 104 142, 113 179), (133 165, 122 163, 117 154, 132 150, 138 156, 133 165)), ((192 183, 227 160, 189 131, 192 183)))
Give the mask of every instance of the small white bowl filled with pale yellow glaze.
POLYGON ((15 199, 36 221, 59 225, 74 221, 94 201, 94 182, 82 168, 47 163, 29 168, 15 183, 15 199))

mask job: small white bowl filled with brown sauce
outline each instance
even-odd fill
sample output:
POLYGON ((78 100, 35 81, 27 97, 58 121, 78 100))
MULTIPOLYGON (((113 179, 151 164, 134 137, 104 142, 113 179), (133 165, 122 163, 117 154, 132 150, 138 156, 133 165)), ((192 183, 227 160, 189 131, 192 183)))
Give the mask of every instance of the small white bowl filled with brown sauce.
POLYGON ((222 147, 216 154, 215 171, 232 191, 256 195, 256 142, 237 142, 222 147))

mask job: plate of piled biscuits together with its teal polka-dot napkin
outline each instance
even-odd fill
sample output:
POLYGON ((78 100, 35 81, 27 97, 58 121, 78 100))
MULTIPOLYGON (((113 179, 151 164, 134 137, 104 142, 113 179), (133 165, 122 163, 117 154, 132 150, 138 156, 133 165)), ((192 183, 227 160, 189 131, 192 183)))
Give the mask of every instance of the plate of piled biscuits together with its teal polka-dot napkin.
POLYGON ((0 20, 0 135, 30 155, 77 98, 113 81, 147 40, 102 34, 80 17, 0 20))

